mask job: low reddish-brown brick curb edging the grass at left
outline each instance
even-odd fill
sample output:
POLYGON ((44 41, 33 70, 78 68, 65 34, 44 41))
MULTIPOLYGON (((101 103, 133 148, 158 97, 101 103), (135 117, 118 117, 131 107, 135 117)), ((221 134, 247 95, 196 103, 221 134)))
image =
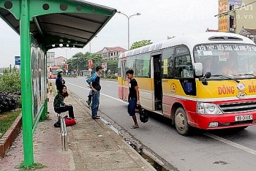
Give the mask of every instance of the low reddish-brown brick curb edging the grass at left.
POLYGON ((22 116, 21 113, 18 115, 18 117, 15 119, 14 123, 12 123, 12 126, 5 132, 3 137, 0 139, 0 158, 4 158, 6 156, 7 151, 9 151, 12 142, 15 140, 15 137, 20 132, 22 126, 22 116))

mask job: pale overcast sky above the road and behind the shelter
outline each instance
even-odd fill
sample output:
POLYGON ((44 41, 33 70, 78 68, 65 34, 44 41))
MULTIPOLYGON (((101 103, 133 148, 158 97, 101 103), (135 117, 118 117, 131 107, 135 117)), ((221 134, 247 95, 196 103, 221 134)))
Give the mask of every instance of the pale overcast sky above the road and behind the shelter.
MULTIPOLYGON (((151 39, 151 42, 162 41, 167 37, 178 37, 183 34, 194 34, 206 31, 207 28, 217 29, 217 0, 91 0, 94 4, 112 7, 130 16, 130 41, 137 42, 151 39)), ((102 28, 97 37, 91 40, 91 53, 102 50, 103 47, 120 46, 127 49, 127 18, 116 13, 102 28)), ((20 38, 0 18, 0 68, 15 64, 15 56, 20 56, 20 38)), ((53 49, 56 57, 72 57, 75 53, 89 52, 89 44, 83 49, 53 49)))

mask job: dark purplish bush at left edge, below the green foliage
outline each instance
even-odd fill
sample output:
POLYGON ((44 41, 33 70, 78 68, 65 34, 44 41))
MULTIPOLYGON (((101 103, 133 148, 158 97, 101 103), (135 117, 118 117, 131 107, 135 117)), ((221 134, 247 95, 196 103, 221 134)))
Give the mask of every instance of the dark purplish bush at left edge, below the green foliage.
POLYGON ((11 91, 0 91, 0 113, 15 110, 18 102, 18 96, 11 91))

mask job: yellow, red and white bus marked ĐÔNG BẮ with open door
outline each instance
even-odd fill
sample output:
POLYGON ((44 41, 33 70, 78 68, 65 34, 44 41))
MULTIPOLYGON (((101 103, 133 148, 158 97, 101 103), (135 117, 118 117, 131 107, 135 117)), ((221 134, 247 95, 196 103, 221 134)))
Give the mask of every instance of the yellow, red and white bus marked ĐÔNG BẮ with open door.
POLYGON ((206 32, 121 53, 118 96, 124 101, 129 94, 127 69, 135 71, 140 104, 170 118, 179 134, 189 134, 192 126, 256 125, 256 46, 251 39, 206 32), (229 67, 233 72, 226 72, 229 67))

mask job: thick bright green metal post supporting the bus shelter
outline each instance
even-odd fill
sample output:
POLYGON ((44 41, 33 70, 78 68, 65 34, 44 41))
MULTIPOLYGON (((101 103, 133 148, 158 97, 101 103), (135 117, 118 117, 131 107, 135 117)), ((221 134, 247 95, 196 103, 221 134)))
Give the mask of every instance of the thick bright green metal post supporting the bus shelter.
POLYGON ((21 100, 23 128, 23 156, 26 167, 34 164, 33 153, 33 113, 31 84, 31 50, 30 50, 29 0, 20 4, 20 70, 21 70, 21 100))

